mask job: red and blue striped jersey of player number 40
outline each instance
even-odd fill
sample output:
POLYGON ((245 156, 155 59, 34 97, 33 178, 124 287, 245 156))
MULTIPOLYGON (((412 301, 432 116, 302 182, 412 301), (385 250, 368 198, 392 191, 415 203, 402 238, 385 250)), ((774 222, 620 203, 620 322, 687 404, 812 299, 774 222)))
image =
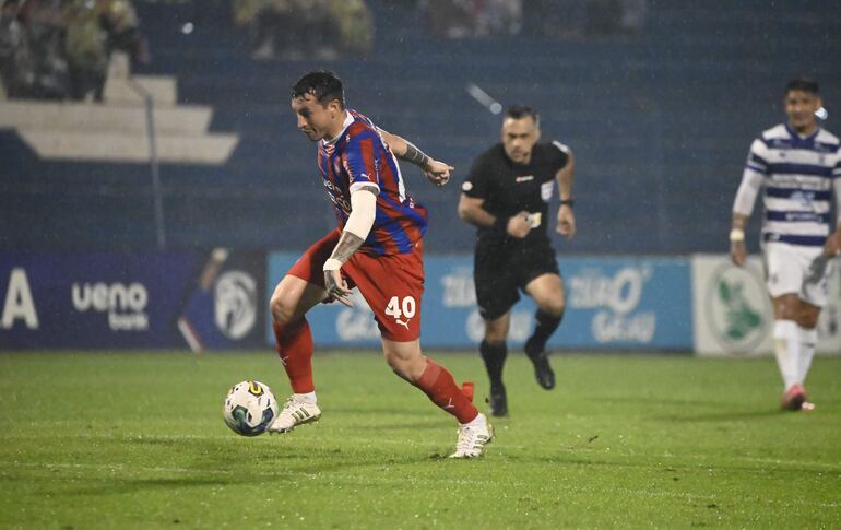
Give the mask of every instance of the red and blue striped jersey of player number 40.
POLYGON ((370 119, 348 109, 339 137, 319 142, 318 168, 340 229, 351 215, 351 192, 363 186, 379 189, 374 226, 359 251, 413 251, 426 232, 426 208, 406 195, 398 161, 370 119))

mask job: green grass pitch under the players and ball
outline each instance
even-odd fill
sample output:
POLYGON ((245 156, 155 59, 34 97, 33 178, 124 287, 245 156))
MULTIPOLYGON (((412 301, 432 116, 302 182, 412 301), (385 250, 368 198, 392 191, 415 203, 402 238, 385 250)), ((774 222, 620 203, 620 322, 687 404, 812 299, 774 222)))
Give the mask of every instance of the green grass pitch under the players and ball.
MULTIPOLYGON (((477 355, 433 356, 482 401, 477 355)), ((841 358, 815 360, 810 413, 778 410, 771 358, 553 362, 547 392, 509 357, 511 416, 453 461, 454 421, 372 352, 317 353, 321 422, 256 438, 222 401, 285 399, 268 351, 0 354, 0 527, 841 526, 841 358)))

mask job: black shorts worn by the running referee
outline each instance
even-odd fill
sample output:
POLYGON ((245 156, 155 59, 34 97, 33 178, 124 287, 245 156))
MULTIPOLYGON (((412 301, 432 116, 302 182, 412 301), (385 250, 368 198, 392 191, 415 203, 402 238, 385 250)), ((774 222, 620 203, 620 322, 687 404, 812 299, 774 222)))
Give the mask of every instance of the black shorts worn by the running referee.
POLYGON ((479 315, 485 320, 501 317, 517 304, 529 282, 547 273, 560 275, 548 243, 511 246, 479 240, 473 261, 479 315))

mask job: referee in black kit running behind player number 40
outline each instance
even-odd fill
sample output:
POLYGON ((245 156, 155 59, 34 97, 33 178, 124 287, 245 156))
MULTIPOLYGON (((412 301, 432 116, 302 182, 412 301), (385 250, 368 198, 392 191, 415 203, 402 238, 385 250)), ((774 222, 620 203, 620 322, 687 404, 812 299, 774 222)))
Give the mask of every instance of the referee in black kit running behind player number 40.
POLYGON ((520 291, 537 304, 534 333, 525 354, 534 364, 537 384, 550 390, 555 373, 546 341, 564 317, 564 281, 546 225, 555 181, 560 192, 556 231, 576 234, 572 213, 575 158, 560 142, 537 143, 541 122, 528 106, 510 107, 502 121, 502 142, 473 163, 462 184, 459 216, 478 227, 474 281, 485 337, 479 353, 490 378, 490 414, 508 414, 502 384, 511 307, 520 291))

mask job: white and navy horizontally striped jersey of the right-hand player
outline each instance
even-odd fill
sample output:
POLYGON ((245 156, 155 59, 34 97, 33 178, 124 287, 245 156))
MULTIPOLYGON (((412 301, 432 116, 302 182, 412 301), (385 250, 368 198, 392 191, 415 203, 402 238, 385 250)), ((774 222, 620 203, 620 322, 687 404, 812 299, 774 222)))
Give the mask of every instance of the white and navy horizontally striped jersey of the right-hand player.
POLYGON ((750 145, 743 176, 745 184, 765 185, 762 239, 824 245, 834 224, 833 180, 841 182, 841 150, 834 134, 819 128, 804 138, 784 123, 763 131, 750 145))

